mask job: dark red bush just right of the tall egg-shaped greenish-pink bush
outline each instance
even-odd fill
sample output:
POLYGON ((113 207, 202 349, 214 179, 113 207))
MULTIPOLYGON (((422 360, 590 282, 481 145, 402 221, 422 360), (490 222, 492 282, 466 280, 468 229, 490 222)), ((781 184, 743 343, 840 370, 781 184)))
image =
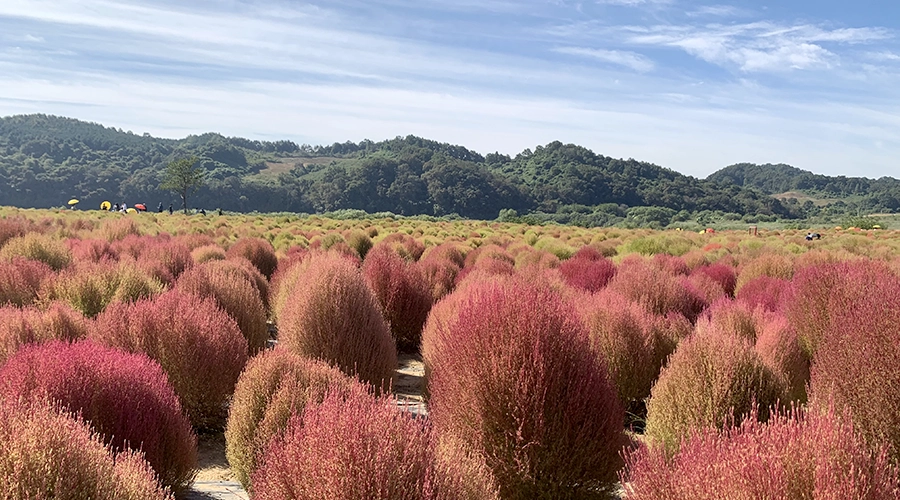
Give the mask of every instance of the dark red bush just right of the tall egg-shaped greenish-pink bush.
POLYGON ((432 301, 431 290, 418 266, 381 246, 368 253, 362 273, 378 299, 397 348, 417 352, 432 301))

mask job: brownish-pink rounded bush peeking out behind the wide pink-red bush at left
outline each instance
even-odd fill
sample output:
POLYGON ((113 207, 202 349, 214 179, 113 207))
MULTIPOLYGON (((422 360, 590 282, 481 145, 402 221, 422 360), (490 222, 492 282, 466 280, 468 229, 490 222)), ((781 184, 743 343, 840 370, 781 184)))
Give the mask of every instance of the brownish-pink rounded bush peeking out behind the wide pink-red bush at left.
POLYGON ((219 272, 207 266, 195 266, 182 273, 175 283, 177 290, 209 298, 238 324, 247 340, 248 353, 252 356, 266 348, 269 328, 266 310, 256 290, 249 281, 235 278, 227 272, 219 272))

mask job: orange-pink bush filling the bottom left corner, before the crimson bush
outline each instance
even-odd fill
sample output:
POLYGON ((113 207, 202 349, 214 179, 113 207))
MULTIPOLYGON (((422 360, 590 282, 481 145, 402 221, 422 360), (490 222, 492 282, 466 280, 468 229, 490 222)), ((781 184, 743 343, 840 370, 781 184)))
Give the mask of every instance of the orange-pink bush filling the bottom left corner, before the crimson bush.
POLYGON ((3 498, 173 498, 139 454, 113 454, 84 422, 47 404, 0 404, 0 443, 3 498))

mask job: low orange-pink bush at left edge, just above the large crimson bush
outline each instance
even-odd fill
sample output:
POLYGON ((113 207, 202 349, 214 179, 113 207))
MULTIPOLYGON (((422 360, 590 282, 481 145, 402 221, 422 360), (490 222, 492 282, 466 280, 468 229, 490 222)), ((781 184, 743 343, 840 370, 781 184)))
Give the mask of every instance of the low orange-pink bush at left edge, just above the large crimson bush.
POLYGON ((0 365, 22 346, 86 336, 84 316, 66 304, 53 302, 46 310, 0 307, 0 365))

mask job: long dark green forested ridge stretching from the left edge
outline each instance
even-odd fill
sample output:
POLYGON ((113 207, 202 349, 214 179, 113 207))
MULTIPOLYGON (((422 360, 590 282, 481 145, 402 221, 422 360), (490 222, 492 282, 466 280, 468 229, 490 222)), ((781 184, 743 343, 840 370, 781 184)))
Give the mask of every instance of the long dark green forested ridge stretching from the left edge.
POLYGON ((208 176, 189 202, 208 209, 476 219, 511 209, 585 225, 629 217, 667 224, 707 211, 797 215, 735 182, 696 179, 559 142, 515 157, 485 157, 413 136, 315 147, 214 133, 171 140, 46 115, 0 118, 0 204, 54 207, 75 197, 82 208, 104 200, 177 205, 159 189, 161 174, 190 155, 208 176))

